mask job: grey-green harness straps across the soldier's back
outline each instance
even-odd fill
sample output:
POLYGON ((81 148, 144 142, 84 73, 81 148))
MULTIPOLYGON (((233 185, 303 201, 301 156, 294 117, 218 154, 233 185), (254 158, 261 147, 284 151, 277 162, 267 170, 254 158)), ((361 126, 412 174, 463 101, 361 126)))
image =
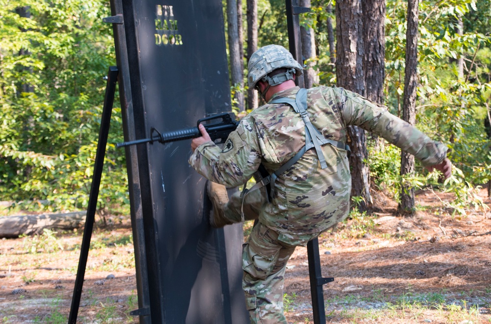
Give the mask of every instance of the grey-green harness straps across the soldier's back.
POLYGON ((276 171, 273 172, 273 174, 264 177, 260 182, 256 183, 254 186, 252 186, 250 189, 246 189, 246 185, 244 185, 244 189, 242 190, 241 197, 242 197, 242 221, 244 222, 244 198, 246 194, 250 191, 262 188, 268 184, 270 184, 271 189, 269 192, 269 198, 274 197, 274 182, 276 181, 276 178, 286 170, 288 170, 293 164, 295 164, 297 161, 300 160, 300 158, 305 154, 307 150, 310 150, 311 148, 315 148, 315 151, 317 153, 317 158, 319 159, 319 163, 321 163, 321 167, 323 169, 327 168, 327 163, 326 159, 324 158, 324 154, 322 153, 321 150, 321 145, 324 144, 331 144, 332 146, 335 146, 339 149, 346 150, 348 153, 348 158, 350 156, 351 150, 350 147, 339 141, 335 141, 332 139, 327 139, 325 138, 321 132, 317 128, 312 125, 310 122, 310 118, 308 117, 308 112, 307 112, 307 89, 301 88, 299 92, 297 93, 297 96, 295 99, 292 98, 277 98, 271 101, 269 104, 288 104, 293 107, 295 112, 300 114, 302 117, 302 120, 305 124, 305 145, 300 149, 300 151, 295 154, 290 160, 285 162, 281 167, 279 167, 276 171))

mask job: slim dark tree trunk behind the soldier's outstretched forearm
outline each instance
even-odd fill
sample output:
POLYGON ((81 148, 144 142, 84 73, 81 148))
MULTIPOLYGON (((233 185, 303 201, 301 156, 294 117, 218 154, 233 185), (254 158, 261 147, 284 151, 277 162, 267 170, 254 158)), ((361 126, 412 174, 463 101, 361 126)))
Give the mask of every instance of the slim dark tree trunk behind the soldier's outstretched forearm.
MULTIPOLYGON (((408 30, 406 32, 406 69, 404 79, 403 118, 416 124, 416 87, 418 83, 418 0, 408 0, 408 30)), ((401 153, 401 175, 414 174, 414 156, 401 153)), ((400 214, 414 214, 414 188, 401 184, 400 214)))

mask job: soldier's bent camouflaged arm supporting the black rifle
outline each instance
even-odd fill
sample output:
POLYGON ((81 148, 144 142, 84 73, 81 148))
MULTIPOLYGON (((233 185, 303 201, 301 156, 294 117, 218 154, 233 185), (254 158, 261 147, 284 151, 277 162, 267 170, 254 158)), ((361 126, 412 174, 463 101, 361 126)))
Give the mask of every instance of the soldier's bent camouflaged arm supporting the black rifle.
POLYGON ((223 148, 208 140, 206 130, 203 133, 200 129, 203 136, 191 142, 189 163, 203 177, 218 184, 229 188, 245 184, 261 163, 261 150, 251 124, 250 119, 243 119, 223 148))

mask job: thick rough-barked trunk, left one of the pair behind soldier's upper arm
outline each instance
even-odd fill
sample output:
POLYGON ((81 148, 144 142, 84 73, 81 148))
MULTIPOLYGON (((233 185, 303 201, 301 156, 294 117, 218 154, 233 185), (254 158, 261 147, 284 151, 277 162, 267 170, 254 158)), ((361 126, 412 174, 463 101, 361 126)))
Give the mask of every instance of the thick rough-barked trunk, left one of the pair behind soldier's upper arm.
MULTIPOLYGON (((337 85, 365 95, 363 74, 362 12, 360 0, 336 1, 336 77, 337 85)), ((370 172, 364 163, 368 159, 365 131, 356 126, 348 127, 351 148, 352 196, 364 201, 358 209, 366 211, 372 203, 370 196, 370 172)))

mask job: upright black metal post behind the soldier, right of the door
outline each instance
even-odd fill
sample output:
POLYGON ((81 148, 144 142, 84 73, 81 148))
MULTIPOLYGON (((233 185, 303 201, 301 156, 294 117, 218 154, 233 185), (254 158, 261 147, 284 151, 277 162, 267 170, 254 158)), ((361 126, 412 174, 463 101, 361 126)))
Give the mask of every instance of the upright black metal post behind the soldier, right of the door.
MULTIPOLYGON (((286 20, 288 26, 288 42, 290 53, 303 66, 302 43, 300 40, 299 14, 309 12, 310 8, 300 7, 298 0, 285 0, 286 20)), ((295 82, 305 87, 303 74, 295 82)), ((312 296, 312 314, 314 324, 326 323, 326 310, 324 308, 324 293, 322 286, 334 281, 334 278, 323 278, 321 271, 321 258, 319 256, 319 241, 317 238, 307 243, 308 272, 310 278, 310 294, 312 296)))

